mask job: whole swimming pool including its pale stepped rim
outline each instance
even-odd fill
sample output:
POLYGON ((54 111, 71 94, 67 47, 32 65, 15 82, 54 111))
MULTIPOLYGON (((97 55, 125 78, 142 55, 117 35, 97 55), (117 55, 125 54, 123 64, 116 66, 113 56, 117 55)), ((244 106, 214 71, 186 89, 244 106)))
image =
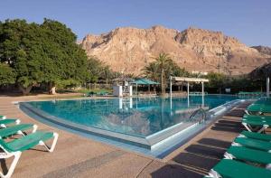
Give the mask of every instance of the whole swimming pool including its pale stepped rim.
POLYGON ((31 101, 20 107, 61 126, 152 150, 195 126, 202 128, 211 121, 210 111, 215 114, 220 105, 236 99, 227 95, 103 98, 31 101), (209 111, 208 117, 201 108, 209 111))

